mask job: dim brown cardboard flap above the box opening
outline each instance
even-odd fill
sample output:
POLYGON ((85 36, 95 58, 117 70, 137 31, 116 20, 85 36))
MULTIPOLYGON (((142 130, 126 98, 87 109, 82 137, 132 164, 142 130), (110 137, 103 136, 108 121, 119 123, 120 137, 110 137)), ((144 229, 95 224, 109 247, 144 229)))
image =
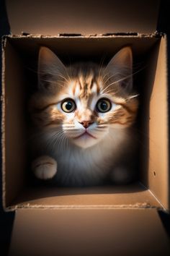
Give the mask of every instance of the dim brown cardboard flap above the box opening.
POLYGON ((14 35, 153 33, 159 0, 6 1, 14 35))

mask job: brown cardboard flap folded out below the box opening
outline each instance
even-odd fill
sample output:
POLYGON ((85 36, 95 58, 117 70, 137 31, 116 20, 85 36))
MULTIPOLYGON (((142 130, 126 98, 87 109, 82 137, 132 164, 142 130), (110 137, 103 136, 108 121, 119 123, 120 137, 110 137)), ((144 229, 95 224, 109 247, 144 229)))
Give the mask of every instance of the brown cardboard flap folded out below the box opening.
POLYGON ((9 255, 169 255, 155 209, 16 212, 9 255))

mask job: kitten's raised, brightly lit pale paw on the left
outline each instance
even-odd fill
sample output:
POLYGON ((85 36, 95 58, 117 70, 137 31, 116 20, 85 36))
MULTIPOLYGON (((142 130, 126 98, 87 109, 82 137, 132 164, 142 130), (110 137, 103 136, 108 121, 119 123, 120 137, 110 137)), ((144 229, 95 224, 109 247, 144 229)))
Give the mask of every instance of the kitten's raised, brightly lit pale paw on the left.
POLYGON ((48 155, 42 155, 32 162, 32 171, 38 179, 52 179, 57 172, 57 162, 48 155))

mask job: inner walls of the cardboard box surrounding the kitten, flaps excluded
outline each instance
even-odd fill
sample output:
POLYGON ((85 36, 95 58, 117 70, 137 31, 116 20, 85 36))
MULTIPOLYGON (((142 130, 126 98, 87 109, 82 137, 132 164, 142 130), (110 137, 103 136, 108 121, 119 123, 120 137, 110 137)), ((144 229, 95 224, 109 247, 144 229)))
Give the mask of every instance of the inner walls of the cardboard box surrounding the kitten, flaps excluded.
POLYGON ((3 77, 4 208, 169 208, 166 38, 9 36, 3 77), (27 99, 37 86, 40 46, 49 47, 67 64, 102 58, 107 62, 127 45, 133 48, 134 84, 140 93, 138 179, 126 186, 84 188, 32 184, 27 170, 27 99))

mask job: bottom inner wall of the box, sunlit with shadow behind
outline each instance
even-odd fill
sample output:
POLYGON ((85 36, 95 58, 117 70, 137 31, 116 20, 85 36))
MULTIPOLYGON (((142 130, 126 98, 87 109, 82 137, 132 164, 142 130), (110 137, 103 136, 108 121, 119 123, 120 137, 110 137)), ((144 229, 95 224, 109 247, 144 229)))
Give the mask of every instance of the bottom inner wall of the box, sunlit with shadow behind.
POLYGON ((30 187, 13 202, 17 208, 160 208, 161 202, 141 184, 119 187, 30 187))

